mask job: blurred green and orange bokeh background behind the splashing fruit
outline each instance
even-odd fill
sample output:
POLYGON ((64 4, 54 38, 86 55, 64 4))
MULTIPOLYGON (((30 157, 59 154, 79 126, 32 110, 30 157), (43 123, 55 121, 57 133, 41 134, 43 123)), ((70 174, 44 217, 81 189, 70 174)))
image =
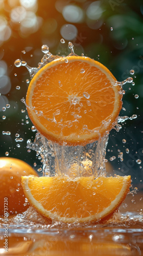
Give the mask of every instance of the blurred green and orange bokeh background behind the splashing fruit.
POLYGON ((53 54, 62 55, 69 53, 68 41, 71 41, 76 54, 84 53, 99 60, 118 81, 129 76, 134 79, 135 85, 124 86, 121 116, 137 115, 137 118, 124 122, 120 132, 110 132, 106 158, 115 174, 131 175, 133 185, 143 189, 142 18, 143 4, 139 0, 0 0, 0 156, 9 154, 33 167, 36 163, 36 170, 41 167, 36 153, 28 152, 27 140, 34 140, 35 133, 31 131, 26 106, 20 101, 26 98, 26 80, 30 76, 25 67, 17 69, 14 60, 20 58, 37 67, 43 56, 43 44, 53 54), (61 38, 65 44, 60 42, 61 38), (130 70, 135 71, 134 75, 130 70), (11 134, 3 135, 3 131, 11 134), (15 134, 23 141, 16 142, 15 134), (123 162, 118 158, 120 152, 123 162), (112 156, 115 159, 110 161, 112 156))

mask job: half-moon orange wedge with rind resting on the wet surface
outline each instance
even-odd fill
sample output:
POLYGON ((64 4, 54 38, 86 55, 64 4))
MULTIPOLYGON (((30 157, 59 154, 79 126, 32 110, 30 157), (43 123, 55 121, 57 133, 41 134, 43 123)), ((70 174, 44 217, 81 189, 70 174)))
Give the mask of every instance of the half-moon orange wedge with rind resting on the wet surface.
POLYGON ((62 221, 104 221, 125 199, 130 176, 99 177, 22 177, 29 203, 44 217, 62 221))

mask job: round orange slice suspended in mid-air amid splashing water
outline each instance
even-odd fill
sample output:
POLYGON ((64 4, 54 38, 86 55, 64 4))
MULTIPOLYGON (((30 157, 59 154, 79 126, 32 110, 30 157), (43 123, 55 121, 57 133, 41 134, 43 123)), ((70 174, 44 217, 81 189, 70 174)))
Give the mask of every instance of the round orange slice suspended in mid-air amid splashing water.
POLYGON ((67 56, 47 63, 31 80, 27 110, 36 129, 59 144, 85 145, 115 125, 122 89, 100 62, 67 56))

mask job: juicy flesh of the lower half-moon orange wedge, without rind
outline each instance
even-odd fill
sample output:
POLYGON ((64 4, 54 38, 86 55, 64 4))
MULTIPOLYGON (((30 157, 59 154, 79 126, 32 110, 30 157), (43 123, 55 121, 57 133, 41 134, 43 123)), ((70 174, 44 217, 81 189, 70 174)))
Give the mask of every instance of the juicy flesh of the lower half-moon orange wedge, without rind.
MULTIPOLYGON (((111 204, 123 187, 124 177, 99 177, 96 180, 93 177, 75 180, 65 177, 33 179, 28 183, 30 192, 44 209, 60 217, 85 218, 99 214, 111 204)), ((127 184, 126 195, 130 186, 129 177, 127 184)))

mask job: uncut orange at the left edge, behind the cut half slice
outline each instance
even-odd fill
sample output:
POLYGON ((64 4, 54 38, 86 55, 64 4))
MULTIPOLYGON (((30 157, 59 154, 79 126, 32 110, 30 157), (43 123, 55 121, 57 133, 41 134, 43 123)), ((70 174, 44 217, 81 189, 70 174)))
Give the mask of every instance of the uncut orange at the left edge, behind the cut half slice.
POLYGON ((21 176, 37 175, 35 170, 22 160, 1 157, 0 175, 0 215, 4 215, 4 210, 9 214, 19 214, 19 212, 27 210, 29 205, 23 205, 26 203, 26 197, 21 185, 21 176))

